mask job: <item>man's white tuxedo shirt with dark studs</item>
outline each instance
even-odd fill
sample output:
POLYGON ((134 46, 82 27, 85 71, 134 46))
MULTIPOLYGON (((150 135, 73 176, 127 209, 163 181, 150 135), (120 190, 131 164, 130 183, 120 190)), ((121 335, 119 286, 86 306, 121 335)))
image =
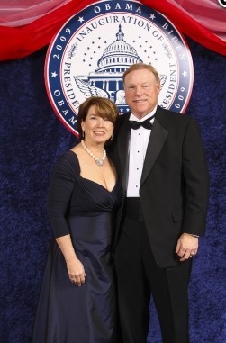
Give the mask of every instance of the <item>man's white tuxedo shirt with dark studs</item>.
MULTIPOLYGON (((130 120, 143 122, 146 119, 153 116, 156 113, 157 106, 154 110, 145 115, 141 120, 138 120, 135 115, 131 113, 130 120)), ((153 124, 155 118, 150 122, 153 124)), ((130 161, 129 161, 129 177, 127 185, 127 197, 139 197, 140 196, 140 178, 143 170, 144 159, 149 143, 149 136, 151 130, 147 130, 140 126, 139 129, 131 129, 131 140, 129 144, 130 149, 130 161)))

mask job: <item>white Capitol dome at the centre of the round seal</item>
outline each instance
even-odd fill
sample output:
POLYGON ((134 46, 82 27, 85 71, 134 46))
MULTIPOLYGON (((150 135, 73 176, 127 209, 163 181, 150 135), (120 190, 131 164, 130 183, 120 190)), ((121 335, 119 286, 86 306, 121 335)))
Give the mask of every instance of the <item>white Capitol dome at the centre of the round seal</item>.
POLYGON ((137 51, 126 41, 122 26, 119 25, 119 31, 116 33, 116 41, 105 48, 101 59, 98 60, 98 68, 95 72, 120 72, 123 73, 134 63, 142 63, 137 51))

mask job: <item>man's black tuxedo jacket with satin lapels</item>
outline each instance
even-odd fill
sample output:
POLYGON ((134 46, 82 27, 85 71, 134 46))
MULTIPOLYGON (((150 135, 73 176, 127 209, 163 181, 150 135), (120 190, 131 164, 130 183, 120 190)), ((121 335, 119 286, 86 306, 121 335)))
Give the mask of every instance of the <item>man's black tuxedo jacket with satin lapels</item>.
MULTIPOLYGON (((124 194, 129 166, 129 117, 130 113, 120 117, 113 140, 124 194)), ((140 204, 158 266, 179 263, 175 249, 183 232, 203 235, 208 192, 209 176, 197 123, 192 117, 158 106, 140 181, 140 204)), ((117 221, 116 245, 122 208, 117 221)))

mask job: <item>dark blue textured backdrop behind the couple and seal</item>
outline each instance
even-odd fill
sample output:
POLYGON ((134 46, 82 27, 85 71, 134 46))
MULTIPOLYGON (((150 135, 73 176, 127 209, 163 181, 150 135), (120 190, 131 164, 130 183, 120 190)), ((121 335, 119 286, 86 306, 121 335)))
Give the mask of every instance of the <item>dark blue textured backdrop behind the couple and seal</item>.
MULTIPOLYGON (((194 90, 185 115, 194 116, 200 124, 211 177, 206 236, 200 239, 189 288, 191 343, 222 343, 226 339, 223 227, 226 59, 194 41, 187 41, 194 59, 194 90)), ((50 169, 56 158, 76 143, 50 107, 43 79, 45 54, 43 49, 24 59, 0 63, 1 343, 31 340, 51 238, 46 213, 50 169)), ((159 343, 153 304, 150 311, 148 342, 159 343)))

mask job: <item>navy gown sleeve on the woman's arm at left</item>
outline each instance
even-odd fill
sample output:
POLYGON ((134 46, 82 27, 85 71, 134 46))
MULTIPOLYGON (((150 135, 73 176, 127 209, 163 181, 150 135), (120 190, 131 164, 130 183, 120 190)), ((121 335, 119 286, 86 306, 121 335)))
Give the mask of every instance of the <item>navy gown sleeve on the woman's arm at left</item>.
POLYGON ((66 214, 73 193, 79 167, 76 155, 68 151, 62 155, 50 176, 48 216, 55 238, 69 234, 66 214))

